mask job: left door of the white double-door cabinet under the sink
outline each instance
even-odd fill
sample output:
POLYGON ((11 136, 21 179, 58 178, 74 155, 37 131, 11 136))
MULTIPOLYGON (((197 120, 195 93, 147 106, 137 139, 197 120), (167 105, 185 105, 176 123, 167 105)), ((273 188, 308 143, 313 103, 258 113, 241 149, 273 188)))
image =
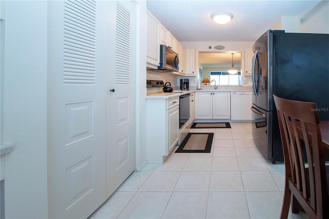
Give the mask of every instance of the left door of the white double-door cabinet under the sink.
POLYGON ((212 95, 211 92, 195 93, 195 119, 212 119, 212 95))

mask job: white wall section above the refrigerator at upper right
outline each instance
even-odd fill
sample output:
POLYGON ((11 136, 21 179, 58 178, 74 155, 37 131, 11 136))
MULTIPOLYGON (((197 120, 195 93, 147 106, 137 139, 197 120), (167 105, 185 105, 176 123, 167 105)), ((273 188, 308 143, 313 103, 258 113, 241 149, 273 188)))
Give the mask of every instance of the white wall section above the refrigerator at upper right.
POLYGON ((299 27, 301 33, 329 33, 329 5, 299 27))

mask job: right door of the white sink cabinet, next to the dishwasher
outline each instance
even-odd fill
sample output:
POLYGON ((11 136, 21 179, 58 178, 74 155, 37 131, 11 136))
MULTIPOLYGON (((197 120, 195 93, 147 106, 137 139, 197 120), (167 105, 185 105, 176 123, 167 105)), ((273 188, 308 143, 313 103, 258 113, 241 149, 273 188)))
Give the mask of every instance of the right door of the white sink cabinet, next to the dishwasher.
POLYGON ((231 99, 229 92, 216 92, 212 95, 213 119, 231 118, 231 99))

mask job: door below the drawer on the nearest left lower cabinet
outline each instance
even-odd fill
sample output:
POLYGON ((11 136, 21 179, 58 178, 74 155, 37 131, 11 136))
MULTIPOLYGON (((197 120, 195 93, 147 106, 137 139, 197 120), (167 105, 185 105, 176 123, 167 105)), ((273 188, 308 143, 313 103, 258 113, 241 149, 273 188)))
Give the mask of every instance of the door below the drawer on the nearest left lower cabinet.
POLYGON ((178 142, 179 135, 179 106, 175 106, 167 111, 167 142, 166 155, 168 155, 178 142))

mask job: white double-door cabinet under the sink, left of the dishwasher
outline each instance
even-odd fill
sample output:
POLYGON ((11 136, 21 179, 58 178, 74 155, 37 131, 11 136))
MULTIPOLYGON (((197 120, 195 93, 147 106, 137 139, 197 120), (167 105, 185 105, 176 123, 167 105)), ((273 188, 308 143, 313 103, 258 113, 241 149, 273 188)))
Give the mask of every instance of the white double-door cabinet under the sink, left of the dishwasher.
POLYGON ((195 92, 195 119, 230 119, 230 92, 195 92))

